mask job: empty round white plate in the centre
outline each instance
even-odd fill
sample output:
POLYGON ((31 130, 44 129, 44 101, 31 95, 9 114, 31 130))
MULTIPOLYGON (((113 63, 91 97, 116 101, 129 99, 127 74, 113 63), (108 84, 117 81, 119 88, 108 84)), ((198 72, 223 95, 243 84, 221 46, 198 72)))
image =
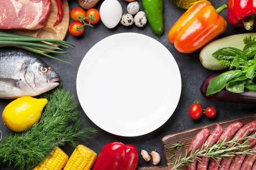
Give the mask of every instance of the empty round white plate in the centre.
POLYGON ((180 99, 180 71, 160 42, 143 34, 107 37, 88 51, 76 80, 79 102, 103 130, 140 136, 163 125, 180 99))

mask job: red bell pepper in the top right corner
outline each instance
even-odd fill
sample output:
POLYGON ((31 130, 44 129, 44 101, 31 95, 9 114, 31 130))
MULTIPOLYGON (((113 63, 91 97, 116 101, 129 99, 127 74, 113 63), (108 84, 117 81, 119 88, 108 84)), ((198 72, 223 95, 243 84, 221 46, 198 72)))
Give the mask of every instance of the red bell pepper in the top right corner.
POLYGON ((232 26, 245 27, 247 30, 256 27, 255 0, 228 0, 227 6, 227 18, 232 26))

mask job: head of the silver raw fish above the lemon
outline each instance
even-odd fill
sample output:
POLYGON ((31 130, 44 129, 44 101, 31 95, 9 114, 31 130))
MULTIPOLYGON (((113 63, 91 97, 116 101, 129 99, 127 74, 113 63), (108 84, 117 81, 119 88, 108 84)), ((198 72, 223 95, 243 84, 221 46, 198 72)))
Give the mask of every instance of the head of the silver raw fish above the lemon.
POLYGON ((52 67, 38 58, 27 68, 25 79, 38 94, 52 90, 59 85, 60 81, 58 74, 52 67))

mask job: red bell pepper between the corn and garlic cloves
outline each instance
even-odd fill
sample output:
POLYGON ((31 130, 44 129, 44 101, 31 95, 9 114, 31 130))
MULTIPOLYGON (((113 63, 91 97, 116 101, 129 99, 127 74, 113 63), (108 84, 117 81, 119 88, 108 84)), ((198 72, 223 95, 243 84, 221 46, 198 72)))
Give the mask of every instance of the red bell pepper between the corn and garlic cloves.
POLYGON ((106 144, 99 153, 93 170, 135 170, 139 154, 131 144, 112 142, 106 144))

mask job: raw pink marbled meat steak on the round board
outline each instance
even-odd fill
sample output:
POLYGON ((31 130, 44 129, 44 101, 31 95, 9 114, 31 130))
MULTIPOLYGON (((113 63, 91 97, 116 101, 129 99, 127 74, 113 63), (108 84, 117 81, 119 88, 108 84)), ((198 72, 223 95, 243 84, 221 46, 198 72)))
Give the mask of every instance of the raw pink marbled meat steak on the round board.
POLYGON ((51 0, 0 0, 0 29, 42 28, 51 5, 51 0))

